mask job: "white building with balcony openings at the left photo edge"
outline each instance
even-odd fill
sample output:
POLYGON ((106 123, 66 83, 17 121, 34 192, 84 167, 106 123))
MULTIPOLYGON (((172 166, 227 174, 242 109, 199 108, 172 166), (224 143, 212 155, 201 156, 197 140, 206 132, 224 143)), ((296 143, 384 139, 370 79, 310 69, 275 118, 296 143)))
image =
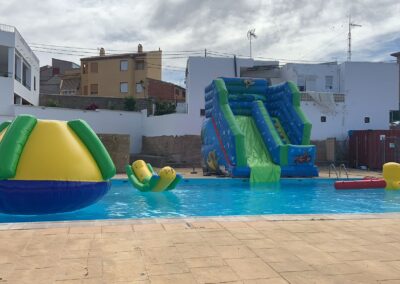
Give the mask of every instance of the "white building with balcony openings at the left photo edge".
POLYGON ((38 105, 39 59, 15 27, 0 24, 0 122, 14 105, 38 105))

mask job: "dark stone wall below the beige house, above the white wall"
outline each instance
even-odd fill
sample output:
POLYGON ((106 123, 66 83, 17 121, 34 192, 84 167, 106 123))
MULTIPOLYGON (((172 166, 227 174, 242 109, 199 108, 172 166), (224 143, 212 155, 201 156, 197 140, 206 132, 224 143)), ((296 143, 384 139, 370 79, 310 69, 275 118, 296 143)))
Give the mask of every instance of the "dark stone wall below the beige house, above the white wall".
MULTIPOLYGON (((95 104, 99 109, 126 110, 124 98, 108 98, 97 96, 65 96, 65 95, 40 95, 39 105, 49 107, 62 107, 72 109, 86 109, 95 104)), ((150 115, 153 112, 152 102, 148 99, 136 99, 135 111, 147 109, 150 115)))

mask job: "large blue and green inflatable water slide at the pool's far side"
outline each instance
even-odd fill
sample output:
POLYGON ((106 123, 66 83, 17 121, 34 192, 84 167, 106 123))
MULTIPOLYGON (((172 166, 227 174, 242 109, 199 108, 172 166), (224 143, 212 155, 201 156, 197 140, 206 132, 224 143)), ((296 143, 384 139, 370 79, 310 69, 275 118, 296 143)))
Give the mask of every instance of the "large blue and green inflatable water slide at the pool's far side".
POLYGON ((218 78, 205 89, 202 159, 205 174, 228 173, 251 182, 318 176, 311 123, 291 82, 218 78))

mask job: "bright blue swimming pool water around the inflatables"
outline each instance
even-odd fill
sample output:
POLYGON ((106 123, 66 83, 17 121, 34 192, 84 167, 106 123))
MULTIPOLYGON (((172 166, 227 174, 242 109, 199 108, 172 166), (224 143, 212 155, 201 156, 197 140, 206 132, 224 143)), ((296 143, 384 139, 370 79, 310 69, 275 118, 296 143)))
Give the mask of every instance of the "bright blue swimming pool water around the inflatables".
POLYGON ((70 213, 41 216, 0 214, 0 222, 119 218, 400 212, 400 192, 335 190, 331 179, 282 179, 250 187, 241 179, 186 179, 175 190, 142 193, 114 180, 98 203, 70 213))

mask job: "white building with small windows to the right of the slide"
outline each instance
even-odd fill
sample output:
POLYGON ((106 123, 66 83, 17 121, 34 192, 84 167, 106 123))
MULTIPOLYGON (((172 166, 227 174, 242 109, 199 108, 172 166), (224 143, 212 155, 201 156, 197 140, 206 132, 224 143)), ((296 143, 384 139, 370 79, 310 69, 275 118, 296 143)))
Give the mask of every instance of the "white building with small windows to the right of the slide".
POLYGON ((281 75, 304 92, 302 108, 315 140, 344 140, 349 130, 389 129, 390 111, 399 105, 396 63, 291 63, 281 75))

